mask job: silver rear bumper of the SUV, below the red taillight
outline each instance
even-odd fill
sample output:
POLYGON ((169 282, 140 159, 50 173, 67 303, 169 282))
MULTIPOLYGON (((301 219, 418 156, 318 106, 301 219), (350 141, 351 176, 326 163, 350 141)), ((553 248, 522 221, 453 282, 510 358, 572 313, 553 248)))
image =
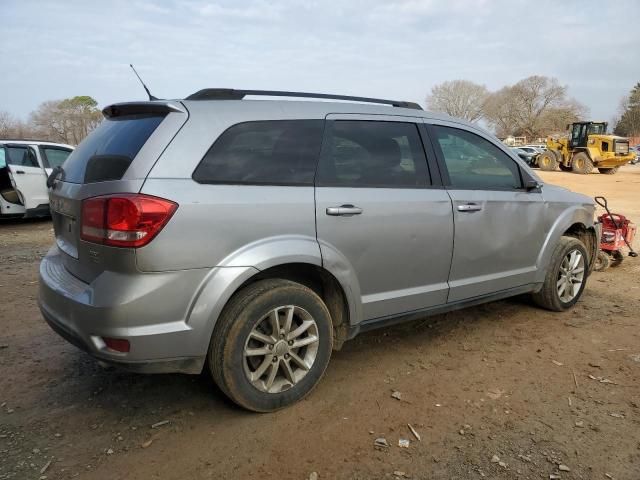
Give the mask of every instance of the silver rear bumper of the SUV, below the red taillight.
POLYGON ((87 284, 66 270, 54 247, 40 264, 38 303, 56 333, 103 362, 145 373, 199 373, 208 342, 186 317, 205 276, 104 272, 87 284), (129 340, 130 351, 110 350, 104 337, 129 340))

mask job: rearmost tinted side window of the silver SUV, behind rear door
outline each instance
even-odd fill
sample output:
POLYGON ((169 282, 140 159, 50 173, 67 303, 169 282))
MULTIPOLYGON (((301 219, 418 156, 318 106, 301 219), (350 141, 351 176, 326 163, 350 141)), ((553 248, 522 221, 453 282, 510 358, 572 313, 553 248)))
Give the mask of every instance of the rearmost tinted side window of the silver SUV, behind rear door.
POLYGON ((313 185, 323 120, 246 122, 211 146, 193 179, 200 183, 313 185))

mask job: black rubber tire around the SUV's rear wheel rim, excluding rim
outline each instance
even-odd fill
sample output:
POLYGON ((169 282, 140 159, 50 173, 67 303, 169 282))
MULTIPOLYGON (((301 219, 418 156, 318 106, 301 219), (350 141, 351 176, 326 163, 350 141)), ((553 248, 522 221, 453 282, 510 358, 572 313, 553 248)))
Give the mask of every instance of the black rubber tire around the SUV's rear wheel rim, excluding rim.
MULTIPOLYGON (((293 322, 296 321, 294 318, 293 322)), ((265 333, 265 336, 272 335, 273 332, 265 333)), ((285 341, 285 343, 287 342, 285 341)), ((301 400, 313 390, 329 364, 332 347, 331 315, 322 299, 311 289, 299 283, 289 280, 267 279, 250 284, 229 300, 211 337, 208 363, 218 387, 236 404, 255 412, 273 412, 301 400), (269 312, 284 306, 294 306, 304 310, 305 313, 308 312, 317 326, 318 348, 311 367, 298 383, 279 392, 271 393, 260 390, 248 378, 246 362, 249 362, 252 357, 245 356, 245 348, 249 345, 249 335, 254 327, 265 321, 263 319, 269 312)), ((275 352, 279 350, 279 346, 273 345, 269 350, 272 348, 273 358, 275 358, 275 352)), ((309 347, 301 347, 297 352, 303 355, 300 352, 306 348, 309 347)), ((269 358, 271 358, 271 353, 264 356, 265 361, 269 358)), ((276 375, 284 375, 284 364, 280 367, 281 363, 278 362, 277 365, 276 375)), ((267 372, 271 371, 270 368, 272 367, 267 368, 267 372)), ((289 371, 291 371, 291 367, 289 367, 289 371)))

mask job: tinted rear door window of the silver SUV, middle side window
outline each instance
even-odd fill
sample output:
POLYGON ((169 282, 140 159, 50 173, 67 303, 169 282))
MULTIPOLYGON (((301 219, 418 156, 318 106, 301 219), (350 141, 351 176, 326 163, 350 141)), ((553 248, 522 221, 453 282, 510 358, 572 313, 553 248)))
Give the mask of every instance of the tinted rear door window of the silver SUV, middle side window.
POLYGON ((321 186, 423 187, 427 161, 413 123, 331 122, 318 172, 321 186))

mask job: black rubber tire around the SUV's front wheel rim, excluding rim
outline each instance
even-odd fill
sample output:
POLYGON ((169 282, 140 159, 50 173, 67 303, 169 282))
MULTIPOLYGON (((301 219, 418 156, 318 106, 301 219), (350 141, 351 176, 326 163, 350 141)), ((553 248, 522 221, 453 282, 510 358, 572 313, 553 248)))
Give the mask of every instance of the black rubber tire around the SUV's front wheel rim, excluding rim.
POLYGON ((562 312, 573 307, 582 296, 587 284, 587 272, 589 271, 589 255, 587 249, 580 240, 574 237, 560 237, 549 262, 549 268, 540 291, 532 294, 533 301, 547 310, 562 312), (576 295, 569 301, 564 301, 558 293, 558 282, 561 279, 560 267, 565 257, 573 251, 578 251, 584 258, 584 277, 576 295))

